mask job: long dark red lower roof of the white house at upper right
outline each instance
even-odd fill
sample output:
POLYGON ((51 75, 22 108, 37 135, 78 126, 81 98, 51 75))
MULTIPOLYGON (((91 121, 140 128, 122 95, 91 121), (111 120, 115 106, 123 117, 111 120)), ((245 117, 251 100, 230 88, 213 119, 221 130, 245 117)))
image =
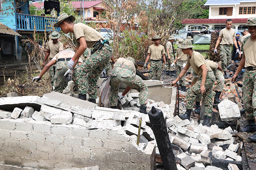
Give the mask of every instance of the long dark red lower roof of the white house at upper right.
MULTIPOLYGON (((228 18, 227 18, 228 19, 228 18)), ((227 19, 183 19, 182 24, 207 24, 207 23, 225 23, 227 19)), ((234 18, 233 23, 247 23, 247 18, 234 18)))

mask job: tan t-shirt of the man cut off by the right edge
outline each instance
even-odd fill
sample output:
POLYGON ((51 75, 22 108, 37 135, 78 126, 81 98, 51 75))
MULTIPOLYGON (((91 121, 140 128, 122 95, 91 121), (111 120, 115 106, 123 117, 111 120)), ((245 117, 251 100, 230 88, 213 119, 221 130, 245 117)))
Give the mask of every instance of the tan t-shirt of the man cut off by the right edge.
POLYGON ((242 44, 241 51, 244 52, 245 57, 244 67, 256 67, 256 40, 247 37, 242 44))

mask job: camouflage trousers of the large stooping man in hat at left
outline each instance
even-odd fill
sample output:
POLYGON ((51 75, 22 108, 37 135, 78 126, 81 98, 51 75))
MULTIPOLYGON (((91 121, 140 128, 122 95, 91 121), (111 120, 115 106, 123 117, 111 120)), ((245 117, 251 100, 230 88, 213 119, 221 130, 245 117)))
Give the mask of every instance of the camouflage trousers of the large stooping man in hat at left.
POLYGON ((111 56, 112 48, 108 44, 105 44, 101 50, 93 53, 79 66, 78 84, 81 87, 81 91, 86 91, 85 88, 88 88, 89 99, 97 98, 97 81, 111 56), (87 86, 82 81, 83 77, 87 77, 87 86))

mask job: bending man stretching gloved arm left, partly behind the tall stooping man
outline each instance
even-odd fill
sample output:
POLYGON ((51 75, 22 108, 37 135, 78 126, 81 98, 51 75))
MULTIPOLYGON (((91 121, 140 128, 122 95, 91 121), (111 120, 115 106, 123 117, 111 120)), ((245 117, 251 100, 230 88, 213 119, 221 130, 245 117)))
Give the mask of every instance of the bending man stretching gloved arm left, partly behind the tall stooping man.
MULTIPOLYGON (((53 91, 62 93, 65 88, 65 84, 66 84, 64 74, 68 70, 68 61, 74 56, 74 54, 75 54, 75 52, 70 51, 70 50, 65 50, 65 51, 59 52, 52 58, 52 60, 47 65, 45 65, 41 74, 39 76, 33 78, 33 81, 35 81, 35 80, 39 81, 41 79, 41 77, 46 73, 46 71, 52 65, 56 64, 54 83, 53 83, 54 84, 53 91)), ((79 59, 78 65, 81 65, 82 62, 83 61, 81 59, 79 59)), ((73 70, 72 80, 75 83, 76 89, 78 89, 79 94, 86 95, 86 91, 82 91, 82 90, 84 90, 84 88, 79 88, 79 86, 78 86, 78 77, 77 77, 77 74, 78 74, 77 69, 79 68, 78 65, 76 65, 76 67, 73 70)), ((84 81, 86 81, 86 77, 84 77, 83 79, 84 79, 84 81)))

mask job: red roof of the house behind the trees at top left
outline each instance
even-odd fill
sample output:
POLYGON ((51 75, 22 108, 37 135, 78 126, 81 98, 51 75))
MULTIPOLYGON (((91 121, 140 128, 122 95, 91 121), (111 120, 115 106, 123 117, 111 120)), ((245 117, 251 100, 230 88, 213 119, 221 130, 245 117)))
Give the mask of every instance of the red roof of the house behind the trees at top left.
MULTIPOLYGON (((74 8, 80 9, 81 1, 71 1, 71 3, 74 8)), ((102 0, 84 1, 84 9, 88 9, 90 7, 96 6, 99 3, 102 3, 102 0)), ((32 3, 32 5, 34 5, 36 8, 44 8, 44 2, 32 3)), ((83 8, 83 3, 82 3, 82 8, 83 8)))

